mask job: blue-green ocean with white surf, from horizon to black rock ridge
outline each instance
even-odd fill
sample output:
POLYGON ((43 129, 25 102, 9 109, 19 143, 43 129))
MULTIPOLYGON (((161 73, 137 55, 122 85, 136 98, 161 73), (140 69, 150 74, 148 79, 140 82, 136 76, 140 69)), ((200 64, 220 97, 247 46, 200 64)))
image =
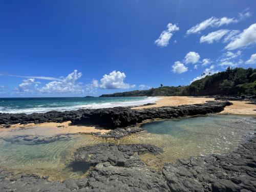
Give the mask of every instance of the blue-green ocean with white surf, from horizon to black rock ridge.
POLYGON ((113 108, 153 103, 156 97, 43 97, 0 98, 0 113, 45 113, 78 109, 113 108))

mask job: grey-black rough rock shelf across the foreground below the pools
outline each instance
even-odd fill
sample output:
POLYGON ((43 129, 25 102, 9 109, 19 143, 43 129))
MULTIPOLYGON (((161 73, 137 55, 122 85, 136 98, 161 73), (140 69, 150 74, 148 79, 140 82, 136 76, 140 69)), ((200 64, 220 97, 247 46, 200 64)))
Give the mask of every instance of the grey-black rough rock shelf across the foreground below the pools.
POLYGON ((94 166, 86 178, 50 181, 34 174, 15 178, 0 170, 0 191, 256 191, 256 136, 233 152, 180 159, 160 172, 140 154, 162 153, 149 144, 100 143, 81 147, 77 161, 94 166))

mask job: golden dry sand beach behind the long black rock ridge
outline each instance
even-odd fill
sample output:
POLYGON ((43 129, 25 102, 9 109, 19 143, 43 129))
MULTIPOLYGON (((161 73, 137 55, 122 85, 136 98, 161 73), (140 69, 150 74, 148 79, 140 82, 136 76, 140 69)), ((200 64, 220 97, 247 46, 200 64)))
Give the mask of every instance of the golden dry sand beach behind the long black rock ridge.
MULTIPOLYGON (((186 97, 186 96, 171 96, 171 97, 158 97, 154 105, 137 106, 133 109, 147 109, 160 106, 178 106, 182 104, 199 104, 206 101, 214 101, 214 98, 205 97, 186 97)), ((233 104, 226 106, 225 110, 221 114, 240 114, 240 115, 256 115, 256 109, 254 104, 248 104, 248 101, 232 101, 233 104)))

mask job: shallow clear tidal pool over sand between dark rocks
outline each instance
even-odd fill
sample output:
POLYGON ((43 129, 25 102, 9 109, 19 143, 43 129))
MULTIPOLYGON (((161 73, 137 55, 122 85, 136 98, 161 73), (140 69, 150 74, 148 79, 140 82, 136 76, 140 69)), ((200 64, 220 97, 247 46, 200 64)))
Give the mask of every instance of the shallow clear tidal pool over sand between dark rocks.
MULTIPOLYGON (((101 139, 91 135, 59 135, 49 128, 34 127, 0 132, 0 168, 15 175, 49 175, 53 180, 76 179, 88 173, 90 165, 74 161, 78 147, 101 142, 148 143, 163 148, 154 156, 141 155, 151 167, 160 169, 165 162, 180 158, 227 153, 242 136, 254 132, 255 117, 207 115, 145 123, 145 130, 125 138, 101 139)), ((61 128, 59 128, 61 129, 61 128)))

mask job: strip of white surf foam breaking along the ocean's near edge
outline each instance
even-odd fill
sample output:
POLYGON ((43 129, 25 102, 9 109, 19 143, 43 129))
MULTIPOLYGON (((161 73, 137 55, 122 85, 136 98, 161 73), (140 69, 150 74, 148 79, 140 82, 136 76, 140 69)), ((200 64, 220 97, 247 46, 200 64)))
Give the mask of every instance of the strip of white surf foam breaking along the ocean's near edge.
POLYGON ((100 108, 114 108, 115 106, 138 106, 147 103, 155 103, 159 98, 157 97, 142 97, 140 100, 131 101, 119 101, 119 102, 102 102, 102 103, 90 103, 73 106, 58 106, 58 107, 36 107, 27 109, 13 109, 13 108, 0 108, 0 113, 46 113, 49 111, 72 111, 78 109, 100 109, 100 108))

